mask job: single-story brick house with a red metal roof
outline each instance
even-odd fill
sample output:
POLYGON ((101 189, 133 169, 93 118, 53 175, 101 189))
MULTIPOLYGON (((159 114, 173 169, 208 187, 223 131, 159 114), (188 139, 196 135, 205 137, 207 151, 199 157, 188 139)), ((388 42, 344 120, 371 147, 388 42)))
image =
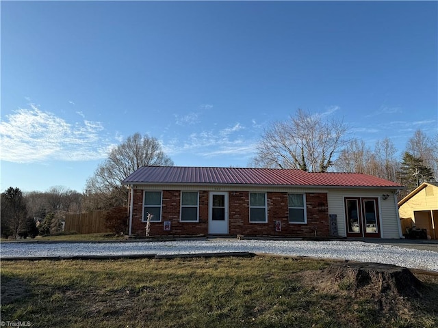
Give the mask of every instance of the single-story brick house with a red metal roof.
POLYGON ((357 173, 237 167, 140 167, 129 235, 400 238, 400 184, 357 173))

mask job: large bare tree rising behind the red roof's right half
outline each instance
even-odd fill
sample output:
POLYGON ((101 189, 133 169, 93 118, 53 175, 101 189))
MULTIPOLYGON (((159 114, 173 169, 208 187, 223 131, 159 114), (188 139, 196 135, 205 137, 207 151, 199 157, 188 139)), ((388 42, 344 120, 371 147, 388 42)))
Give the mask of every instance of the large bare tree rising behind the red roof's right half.
POLYGON ((266 129, 251 165, 326 172, 346 142, 346 131, 342 121, 326 122, 322 115, 298 109, 289 121, 275 122, 266 129))

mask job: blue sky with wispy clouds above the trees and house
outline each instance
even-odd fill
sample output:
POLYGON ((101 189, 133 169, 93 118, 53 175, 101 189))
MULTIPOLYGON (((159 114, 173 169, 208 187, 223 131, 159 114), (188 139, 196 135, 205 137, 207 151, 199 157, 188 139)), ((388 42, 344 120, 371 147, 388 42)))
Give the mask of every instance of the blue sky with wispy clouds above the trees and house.
POLYGON ((1 1, 1 190, 83 191, 147 133, 245 167, 296 109, 400 152, 437 133, 436 1, 1 1))

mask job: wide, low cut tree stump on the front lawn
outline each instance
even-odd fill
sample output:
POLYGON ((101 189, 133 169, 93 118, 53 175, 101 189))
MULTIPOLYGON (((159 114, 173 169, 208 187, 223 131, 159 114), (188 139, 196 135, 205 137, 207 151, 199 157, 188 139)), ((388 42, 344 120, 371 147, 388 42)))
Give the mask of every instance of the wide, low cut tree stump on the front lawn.
POLYGON ((401 297, 420 297, 423 286, 407 268, 381 263, 335 263, 326 269, 339 288, 368 290, 374 293, 394 293, 401 297))

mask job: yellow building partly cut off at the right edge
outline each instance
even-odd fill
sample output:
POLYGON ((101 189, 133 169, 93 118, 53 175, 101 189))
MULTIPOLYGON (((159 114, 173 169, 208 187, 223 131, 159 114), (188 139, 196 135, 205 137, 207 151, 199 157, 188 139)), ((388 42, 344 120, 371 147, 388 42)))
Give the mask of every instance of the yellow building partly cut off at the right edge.
POLYGON ((438 239, 438 182, 420 184, 398 202, 398 211, 405 229, 425 229, 426 238, 438 239))

